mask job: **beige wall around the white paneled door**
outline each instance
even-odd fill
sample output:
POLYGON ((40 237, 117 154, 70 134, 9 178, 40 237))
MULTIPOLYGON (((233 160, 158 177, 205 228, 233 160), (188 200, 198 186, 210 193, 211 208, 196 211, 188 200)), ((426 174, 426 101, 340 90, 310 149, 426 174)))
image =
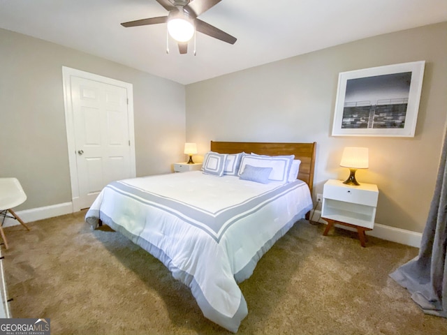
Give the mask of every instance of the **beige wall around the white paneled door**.
POLYGON ((184 160, 182 84, 0 29, 0 176, 20 179, 17 210, 71 201, 62 66, 133 84, 138 176, 184 160))

